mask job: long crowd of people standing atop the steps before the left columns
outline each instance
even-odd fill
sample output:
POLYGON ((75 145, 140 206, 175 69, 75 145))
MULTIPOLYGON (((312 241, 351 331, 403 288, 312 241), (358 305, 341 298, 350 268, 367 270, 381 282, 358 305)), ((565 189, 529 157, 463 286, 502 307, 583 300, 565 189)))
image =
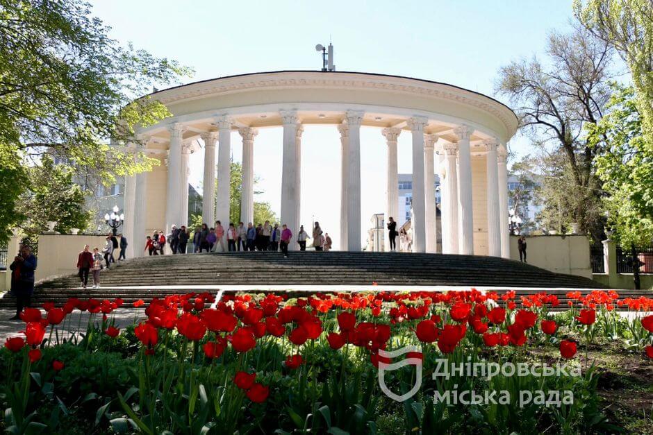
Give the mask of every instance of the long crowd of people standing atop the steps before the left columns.
MULTIPOLYGON (((287 256, 290 239, 292 239, 292 230, 285 224, 272 225, 270 221, 265 221, 256 226, 249 222, 245 226, 245 223, 240 222, 238 226, 229 223, 229 226, 224 228, 220 221, 215 221, 213 227, 209 227, 206 223, 196 227, 192 237, 190 229, 185 225, 181 225, 180 228, 172 225, 172 231, 167 234, 167 237, 163 231, 155 231, 154 234, 146 237, 144 250, 149 255, 164 255, 165 246, 168 244, 172 254, 185 254, 188 252, 190 241, 193 253, 281 250, 287 256)), ((315 222, 312 237, 309 237, 304 230, 304 225, 299 227, 297 233, 299 250, 306 250, 308 239, 313 240, 315 250, 330 250, 333 244, 329 234, 322 232, 318 222, 315 222)))

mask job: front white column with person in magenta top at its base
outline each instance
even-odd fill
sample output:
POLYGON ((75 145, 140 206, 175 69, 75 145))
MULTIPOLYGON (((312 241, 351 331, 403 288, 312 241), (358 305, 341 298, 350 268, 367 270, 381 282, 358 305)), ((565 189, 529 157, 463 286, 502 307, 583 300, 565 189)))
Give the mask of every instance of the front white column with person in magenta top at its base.
POLYGON ((297 233, 299 223, 297 222, 299 206, 299 191, 297 189, 297 127, 299 118, 294 110, 282 110, 281 121, 283 121, 283 160, 281 168, 281 225, 286 224, 292 231, 292 243, 289 250, 297 250, 297 233))

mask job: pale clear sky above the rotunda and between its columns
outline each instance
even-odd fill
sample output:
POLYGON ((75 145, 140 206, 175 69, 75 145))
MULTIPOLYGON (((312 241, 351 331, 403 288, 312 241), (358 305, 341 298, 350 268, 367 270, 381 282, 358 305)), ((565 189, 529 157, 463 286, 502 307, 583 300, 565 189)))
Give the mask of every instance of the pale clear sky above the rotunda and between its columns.
MULTIPOLYGON (((522 56, 543 53, 547 32, 567 31, 570 0, 551 1, 144 1, 94 0, 94 13, 112 36, 195 69, 191 82, 256 71, 320 69, 315 44, 335 47, 336 69, 397 74, 451 83, 493 96, 497 71, 522 56), (322 5, 322 7, 318 5, 322 5)), ((502 99, 500 96, 497 97, 502 99)), ((240 137, 232 139, 240 160, 240 137)), ((513 151, 528 153, 515 138, 513 151)), ((302 139, 301 221, 313 216, 338 246, 340 142, 335 127, 308 127, 302 139), (333 178, 331 178, 333 180, 333 178)), ((201 154, 201 153, 199 153, 201 154)), ((201 187, 202 158, 191 158, 192 184, 201 187)), ((385 144, 363 128, 363 237, 373 213, 383 212, 385 144)), ((399 137, 399 171, 411 173, 410 138, 399 137)), ((279 212, 281 130, 255 142, 257 201, 279 212)))

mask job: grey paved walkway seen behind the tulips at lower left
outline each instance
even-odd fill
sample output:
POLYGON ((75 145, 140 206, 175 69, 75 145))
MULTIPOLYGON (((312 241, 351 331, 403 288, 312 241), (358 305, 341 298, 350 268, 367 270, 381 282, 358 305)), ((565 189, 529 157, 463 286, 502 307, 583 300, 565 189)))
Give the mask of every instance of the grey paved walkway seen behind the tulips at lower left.
MULTIPOLYGON (((4 345, 4 341, 7 339, 9 336, 15 336, 15 335, 20 335, 21 331, 25 329, 25 323, 23 321, 12 321, 9 320, 16 314, 14 311, 8 310, 8 309, 0 309, 0 346, 4 345)), ((86 325, 88 323, 88 318, 90 314, 88 312, 80 313, 78 310, 75 310, 71 314, 69 314, 66 318, 65 321, 60 323, 59 325, 56 326, 56 330, 58 331, 59 334, 59 339, 63 339, 64 337, 69 337, 74 334, 74 332, 77 331, 77 325, 78 322, 80 321, 80 316, 81 316, 81 330, 82 332, 86 330, 86 325)), ((133 323, 134 321, 134 316, 136 317, 137 321, 140 321, 140 319, 145 317, 145 312, 144 309, 142 308, 119 308, 115 311, 115 314, 110 314, 109 318, 114 318, 115 319, 115 325, 116 327, 119 327, 120 329, 129 326, 133 323)), ((101 314, 95 314, 95 319, 98 322, 102 321, 102 316, 101 314)), ((50 327, 47 328, 45 336, 49 336, 50 334, 50 327)), ((52 335, 52 339, 54 340, 54 334, 52 335)))

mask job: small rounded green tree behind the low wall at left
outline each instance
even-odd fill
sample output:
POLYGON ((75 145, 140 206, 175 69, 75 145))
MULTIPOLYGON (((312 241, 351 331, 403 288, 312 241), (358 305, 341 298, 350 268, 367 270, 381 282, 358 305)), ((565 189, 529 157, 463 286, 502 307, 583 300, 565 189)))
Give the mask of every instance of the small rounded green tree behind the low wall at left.
POLYGON ((17 212, 25 216, 20 226, 28 237, 38 236, 48 221, 57 221, 59 232, 87 228, 92 212, 85 210, 85 192, 72 177, 72 169, 55 164, 49 156, 28 168, 29 184, 17 205, 17 212))

